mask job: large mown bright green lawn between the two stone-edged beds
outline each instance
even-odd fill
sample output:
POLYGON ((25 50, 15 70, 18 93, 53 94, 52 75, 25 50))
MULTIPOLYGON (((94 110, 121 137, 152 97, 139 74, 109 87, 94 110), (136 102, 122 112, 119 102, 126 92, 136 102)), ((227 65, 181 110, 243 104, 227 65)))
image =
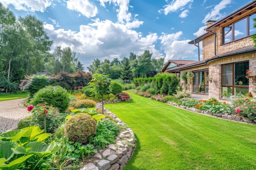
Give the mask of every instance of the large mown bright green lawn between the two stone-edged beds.
POLYGON ((104 104, 137 138, 123 170, 256 169, 256 126, 129 94, 129 102, 104 104))

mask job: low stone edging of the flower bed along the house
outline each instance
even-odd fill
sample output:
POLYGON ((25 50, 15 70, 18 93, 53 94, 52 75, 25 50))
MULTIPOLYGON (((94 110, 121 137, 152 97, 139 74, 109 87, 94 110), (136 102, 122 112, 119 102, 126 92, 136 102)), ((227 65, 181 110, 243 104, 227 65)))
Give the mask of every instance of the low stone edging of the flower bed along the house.
POLYGON ((219 118, 219 119, 225 119, 225 120, 229 120, 229 121, 236 121, 238 123, 243 123, 243 124, 256 125, 256 120, 255 121, 249 121, 249 120, 245 120, 245 119, 242 119, 242 118, 238 120, 230 114, 217 113, 217 114, 213 115, 213 113, 204 112, 204 110, 198 110, 198 109, 192 108, 192 107, 187 108, 186 106, 178 105, 175 102, 165 102, 165 103, 170 104, 170 105, 175 106, 175 107, 178 107, 178 108, 183 108, 185 110, 189 110, 189 111, 192 111, 194 113, 201 114, 201 115, 207 115, 207 116, 210 116, 210 117, 216 117, 216 118, 219 118))

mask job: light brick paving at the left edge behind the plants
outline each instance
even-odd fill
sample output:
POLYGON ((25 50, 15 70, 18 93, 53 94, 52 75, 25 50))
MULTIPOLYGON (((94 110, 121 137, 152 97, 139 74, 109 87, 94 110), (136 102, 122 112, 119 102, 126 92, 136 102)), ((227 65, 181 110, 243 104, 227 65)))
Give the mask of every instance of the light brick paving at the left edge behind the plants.
POLYGON ((23 106, 23 99, 0 102, 0 132, 18 129, 20 119, 31 115, 23 106))

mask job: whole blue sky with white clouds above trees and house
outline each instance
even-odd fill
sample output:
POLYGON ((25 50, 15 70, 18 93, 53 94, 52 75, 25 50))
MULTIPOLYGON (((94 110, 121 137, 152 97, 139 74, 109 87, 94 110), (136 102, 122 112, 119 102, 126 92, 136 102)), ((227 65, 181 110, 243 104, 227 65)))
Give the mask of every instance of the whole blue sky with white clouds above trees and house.
MULTIPOLYGON (((130 52, 168 60, 198 60, 189 41, 206 22, 220 20, 251 0, 0 0, 16 17, 35 15, 56 46, 70 47, 87 67, 129 57, 130 52)), ((202 56, 201 56, 202 57, 202 56)))

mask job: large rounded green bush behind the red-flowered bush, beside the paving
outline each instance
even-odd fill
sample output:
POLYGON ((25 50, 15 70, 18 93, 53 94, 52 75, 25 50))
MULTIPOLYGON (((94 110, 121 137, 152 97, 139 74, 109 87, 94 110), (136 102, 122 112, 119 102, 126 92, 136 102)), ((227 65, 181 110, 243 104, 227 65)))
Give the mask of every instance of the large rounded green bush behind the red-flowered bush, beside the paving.
POLYGON ((31 99, 31 104, 34 106, 45 103, 45 105, 53 105, 60 112, 65 112, 70 103, 70 95, 65 88, 61 86, 46 86, 35 93, 31 99))

